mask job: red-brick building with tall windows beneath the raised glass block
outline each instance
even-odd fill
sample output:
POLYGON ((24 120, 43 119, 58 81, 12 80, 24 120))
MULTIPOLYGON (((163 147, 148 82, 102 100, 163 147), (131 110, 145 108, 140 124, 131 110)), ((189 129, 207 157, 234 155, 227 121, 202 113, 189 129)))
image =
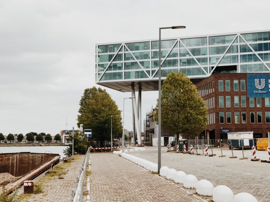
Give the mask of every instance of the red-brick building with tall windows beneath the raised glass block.
POLYGON ((208 109, 205 139, 227 139, 227 132, 241 131, 253 131, 254 138, 267 137, 269 97, 248 97, 247 73, 213 74, 196 87, 208 109))

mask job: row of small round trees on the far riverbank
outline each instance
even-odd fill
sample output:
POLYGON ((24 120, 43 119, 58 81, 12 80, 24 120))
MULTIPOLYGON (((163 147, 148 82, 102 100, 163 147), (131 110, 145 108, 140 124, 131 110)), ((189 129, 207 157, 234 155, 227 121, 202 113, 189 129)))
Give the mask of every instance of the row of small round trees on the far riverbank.
MULTIPOLYGON (((23 140, 23 138, 24 138, 24 136, 23 136, 23 134, 12 134, 12 133, 9 133, 8 134, 8 136, 6 137, 6 140, 7 141, 14 141, 15 140, 15 136, 17 137, 17 141, 18 142, 22 142, 22 140, 23 140)), ((47 142, 51 142, 52 141, 52 136, 48 133, 48 134, 46 134, 46 133, 35 133, 35 132, 30 132, 30 133, 27 133, 26 135, 26 140, 28 141, 28 142, 34 142, 35 141, 35 136, 36 136, 36 141, 38 141, 38 142, 42 142, 42 141, 47 141, 47 142)), ((5 140, 5 136, 2 134, 2 133, 0 133, 0 141, 4 141, 5 140)), ((54 140, 55 141, 61 141, 61 136, 60 136, 60 134, 56 134, 55 136, 54 136, 54 140)))

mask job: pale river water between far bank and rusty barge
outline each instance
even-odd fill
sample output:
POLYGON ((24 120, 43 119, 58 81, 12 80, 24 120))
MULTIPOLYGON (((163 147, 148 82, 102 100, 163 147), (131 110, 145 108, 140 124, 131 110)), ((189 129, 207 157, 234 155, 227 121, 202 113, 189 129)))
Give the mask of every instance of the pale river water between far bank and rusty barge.
POLYGON ((50 153, 59 154, 61 156, 60 159, 65 157, 63 150, 66 149, 67 146, 33 146, 33 147, 0 147, 0 153, 17 153, 17 152, 31 152, 31 153, 50 153))

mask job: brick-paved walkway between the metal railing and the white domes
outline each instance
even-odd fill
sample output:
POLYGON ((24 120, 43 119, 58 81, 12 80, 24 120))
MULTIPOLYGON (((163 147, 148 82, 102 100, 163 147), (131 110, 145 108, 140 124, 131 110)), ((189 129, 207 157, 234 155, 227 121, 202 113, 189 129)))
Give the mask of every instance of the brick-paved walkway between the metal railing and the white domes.
POLYGON ((91 154, 91 202, 205 201, 112 153, 91 154))

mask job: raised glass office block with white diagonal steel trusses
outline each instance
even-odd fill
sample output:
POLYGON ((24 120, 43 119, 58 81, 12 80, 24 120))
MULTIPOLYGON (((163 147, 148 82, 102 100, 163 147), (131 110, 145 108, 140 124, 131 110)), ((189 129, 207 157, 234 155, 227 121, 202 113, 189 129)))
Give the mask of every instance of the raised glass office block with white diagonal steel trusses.
MULTIPOLYGON (((213 73, 270 72, 270 30, 161 41, 161 79, 181 70, 197 83, 213 73)), ((158 40, 96 44, 96 83, 123 92, 157 90, 158 40), (145 88, 144 88, 145 87, 145 88)))

